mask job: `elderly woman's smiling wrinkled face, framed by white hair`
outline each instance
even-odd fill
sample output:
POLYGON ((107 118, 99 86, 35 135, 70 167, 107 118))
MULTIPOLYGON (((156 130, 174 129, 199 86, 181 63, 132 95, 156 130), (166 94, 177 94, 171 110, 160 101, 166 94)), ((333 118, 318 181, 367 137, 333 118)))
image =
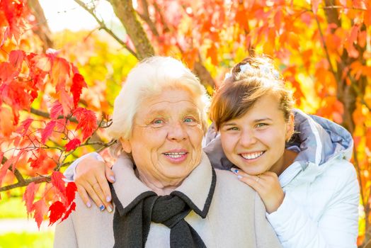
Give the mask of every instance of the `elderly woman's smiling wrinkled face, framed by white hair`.
POLYGON ((200 110, 187 90, 167 89, 142 101, 132 135, 122 141, 139 173, 164 186, 179 184, 200 164, 200 110))

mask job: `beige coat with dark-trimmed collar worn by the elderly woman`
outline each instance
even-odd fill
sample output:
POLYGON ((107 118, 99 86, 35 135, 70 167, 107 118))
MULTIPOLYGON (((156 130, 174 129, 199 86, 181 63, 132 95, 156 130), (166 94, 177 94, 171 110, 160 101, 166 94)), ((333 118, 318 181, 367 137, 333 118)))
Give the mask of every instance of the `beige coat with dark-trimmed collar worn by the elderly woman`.
MULTIPOLYGON (((120 158, 113 167, 115 192, 125 208, 139 194, 151 191, 134 174, 130 159, 120 158)), ((217 181, 209 213, 205 219, 191 211, 185 220, 198 232, 207 247, 281 247, 266 220, 266 209, 258 194, 230 171, 216 170, 217 181)), ((202 154, 202 162, 183 181, 181 191, 203 209, 212 181, 212 167, 202 154)), ((95 205, 86 208, 76 198, 76 211, 59 223, 55 247, 113 247, 113 213, 95 205)), ((152 222, 146 247, 169 247, 170 229, 152 222)))

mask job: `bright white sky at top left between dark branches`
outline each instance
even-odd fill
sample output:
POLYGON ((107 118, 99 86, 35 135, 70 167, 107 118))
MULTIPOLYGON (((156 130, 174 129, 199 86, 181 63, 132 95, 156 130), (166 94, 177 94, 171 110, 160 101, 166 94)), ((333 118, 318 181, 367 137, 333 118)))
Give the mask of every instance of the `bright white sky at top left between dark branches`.
MULTIPOLYGON (((74 0, 39 0, 45 17, 52 32, 64 29, 69 30, 91 30, 98 24, 95 19, 74 0)), ((107 1, 94 1, 97 5, 98 17, 101 16, 106 25, 110 26, 113 20, 113 9, 107 1)))

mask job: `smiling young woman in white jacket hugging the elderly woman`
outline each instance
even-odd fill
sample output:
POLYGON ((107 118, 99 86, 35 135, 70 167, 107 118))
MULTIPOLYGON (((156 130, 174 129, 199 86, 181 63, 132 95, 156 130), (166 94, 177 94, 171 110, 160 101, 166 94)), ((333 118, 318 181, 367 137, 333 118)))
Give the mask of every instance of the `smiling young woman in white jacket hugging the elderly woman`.
MULTIPOLYGON (((258 192, 283 247, 356 247, 359 188, 348 162, 352 137, 340 125, 292 109, 292 103, 272 61, 247 58, 213 96, 214 123, 204 150, 214 167, 231 169, 258 192)), ((110 208, 103 171, 111 182, 113 174, 104 168, 85 158, 76 184, 86 203, 88 191, 110 208), (97 181, 101 187, 92 188, 97 181)))

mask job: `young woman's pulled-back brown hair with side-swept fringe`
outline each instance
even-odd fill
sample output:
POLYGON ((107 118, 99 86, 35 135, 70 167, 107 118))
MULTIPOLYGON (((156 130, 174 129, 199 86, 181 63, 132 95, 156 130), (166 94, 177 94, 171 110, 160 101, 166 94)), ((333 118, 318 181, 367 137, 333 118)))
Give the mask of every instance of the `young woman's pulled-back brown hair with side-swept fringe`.
POLYGON ((285 89, 282 76, 275 70, 273 61, 265 56, 247 57, 234 65, 231 74, 212 98, 210 119, 215 128, 240 118, 258 99, 266 94, 278 96, 285 121, 290 118, 294 100, 292 92, 285 89))

